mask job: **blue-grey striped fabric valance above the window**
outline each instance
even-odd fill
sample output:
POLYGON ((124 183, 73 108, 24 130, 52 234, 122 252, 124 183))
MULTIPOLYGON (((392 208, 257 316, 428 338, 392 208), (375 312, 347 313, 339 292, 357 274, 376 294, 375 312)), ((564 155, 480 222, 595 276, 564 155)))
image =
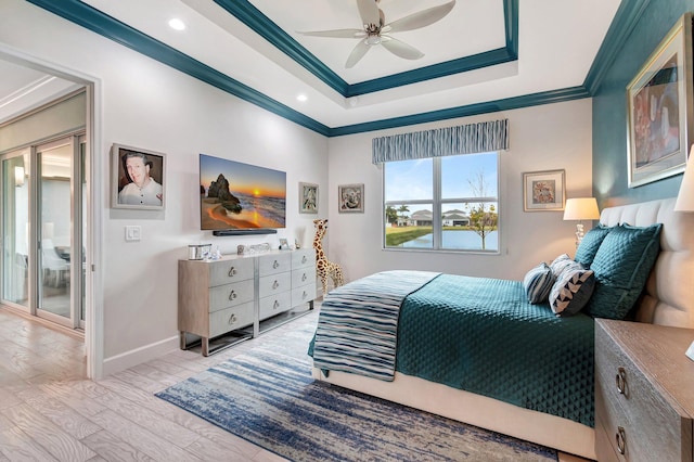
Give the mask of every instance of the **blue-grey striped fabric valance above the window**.
POLYGON ((374 164, 509 149, 509 119, 374 138, 374 164))

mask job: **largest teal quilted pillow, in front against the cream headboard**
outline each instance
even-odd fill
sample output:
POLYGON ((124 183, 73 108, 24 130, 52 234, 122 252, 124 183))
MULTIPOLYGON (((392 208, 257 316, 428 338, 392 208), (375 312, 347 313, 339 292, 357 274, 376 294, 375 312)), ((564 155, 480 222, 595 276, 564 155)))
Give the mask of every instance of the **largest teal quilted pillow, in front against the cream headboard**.
POLYGON ((591 269, 595 288, 588 305, 593 318, 625 319, 643 291, 660 252, 661 223, 620 224, 603 240, 591 269))

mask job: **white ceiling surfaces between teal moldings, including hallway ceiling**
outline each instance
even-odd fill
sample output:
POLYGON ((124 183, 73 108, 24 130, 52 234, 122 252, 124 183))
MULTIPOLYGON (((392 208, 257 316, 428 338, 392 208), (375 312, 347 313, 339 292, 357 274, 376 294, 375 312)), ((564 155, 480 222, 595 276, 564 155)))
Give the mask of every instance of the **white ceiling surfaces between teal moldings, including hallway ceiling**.
MULTIPOLYGON (((620 3, 523 0, 517 61, 345 98, 211 0, 82 1, 331 128, 581 86, 620 3), (167 23, 172 17, 187 28, 171 29, 167 23), (308 100, 297 101, 300 93, 308 100)), ((389 23, 447 1, 381 0, 380 8, 389 23)), ((360 28, 355 0, 249 2, 349 85, 506 43, 502 0, 458 0, 438 23, 393 34, 421 50, 421 60, 402 60, 378 47, 346 69, 357 39, 309 37, 297 30, 360 28)), ((44 75, 10 63, 0 62, 0 121, 15 111, 16 101, 47 87, 44 75)))

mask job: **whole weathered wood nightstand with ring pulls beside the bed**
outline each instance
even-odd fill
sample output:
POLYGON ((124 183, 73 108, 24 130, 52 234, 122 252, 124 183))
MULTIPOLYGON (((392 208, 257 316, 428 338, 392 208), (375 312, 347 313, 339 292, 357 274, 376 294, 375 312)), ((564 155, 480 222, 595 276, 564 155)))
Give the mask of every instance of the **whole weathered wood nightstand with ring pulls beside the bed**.
POLYGON ((692 461, 694 330, 595 323, 595 453, 603 461, 692 461))

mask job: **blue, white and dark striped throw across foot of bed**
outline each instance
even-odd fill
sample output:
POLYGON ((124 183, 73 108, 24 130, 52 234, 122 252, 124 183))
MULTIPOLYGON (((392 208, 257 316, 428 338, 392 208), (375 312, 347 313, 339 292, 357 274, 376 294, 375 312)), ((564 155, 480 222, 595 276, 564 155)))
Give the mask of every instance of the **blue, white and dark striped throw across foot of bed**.
POLYGON ((329 293, 318 319, 313 365, 393 381, 400 306, 439 274, 383 271, 329 293))

